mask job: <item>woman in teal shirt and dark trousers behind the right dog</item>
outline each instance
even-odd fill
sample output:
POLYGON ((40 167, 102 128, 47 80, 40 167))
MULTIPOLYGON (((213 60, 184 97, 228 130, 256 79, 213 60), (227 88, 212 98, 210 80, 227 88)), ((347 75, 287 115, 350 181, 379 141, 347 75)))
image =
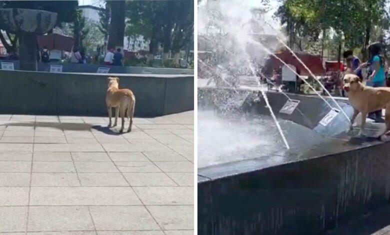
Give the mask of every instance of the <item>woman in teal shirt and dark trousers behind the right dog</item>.
MULTIPOLYGON (((368 47, 370 52, 371 61, 371 75, 368 76, 368 81, 371 82, 373 87, 386 86, 385 74, 384 74, 384 59, 380 55, 380 45, 378 43, 371 44, 368 47)), ((383 122, 382 110, 373 111, 368 114, 368 118, 374 119, 375 122, 383 122)))

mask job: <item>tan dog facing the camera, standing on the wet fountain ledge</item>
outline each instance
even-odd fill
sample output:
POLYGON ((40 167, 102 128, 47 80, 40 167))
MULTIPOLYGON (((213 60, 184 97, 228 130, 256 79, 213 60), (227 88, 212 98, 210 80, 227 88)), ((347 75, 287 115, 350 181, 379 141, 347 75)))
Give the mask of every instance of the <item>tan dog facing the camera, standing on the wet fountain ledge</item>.
POLYGON ((385 108, 385 123, 386 130, 390 130, 390 87, 369 87, 360 82, 360 79, 355 74, 344 75, 343 89, 348 94, 348 99, 353 107, 353 115, 351 118, 350 129, 353 122, 361 112, 360 135, 364 134, 365 119, 367 114, 385 108))

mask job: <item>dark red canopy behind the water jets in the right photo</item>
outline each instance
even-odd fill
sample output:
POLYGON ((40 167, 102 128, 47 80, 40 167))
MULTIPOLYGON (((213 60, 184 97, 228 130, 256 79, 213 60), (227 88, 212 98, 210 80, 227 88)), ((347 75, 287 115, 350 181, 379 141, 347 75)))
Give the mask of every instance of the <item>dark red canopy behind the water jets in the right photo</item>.
MULTIPOLYGON (((296 56, 302 60, 302 62, 310 69, 310 71, 314 75, 322 75, 325 73, 325 68, 322 65, 322 59, 320 55, 315 54, 309 54, 305 52, 295 52, 296 56)), ((308 76, 310 75, 309 72, 304 68, 304 66, 296 59, 294 55, 289 50, 282 50, 280 52, 276 52, 272 55, 270 55, 266 67, 272 68, 278 68, 283 65, 282 62, 280 62, 275 56, 279 57, 281 60, 283 60, 287 64, 294 65, 296 67, 296 70, 300 71, 300 75, 308 76), (268 67, 269 66, 269 67, 268 67)))

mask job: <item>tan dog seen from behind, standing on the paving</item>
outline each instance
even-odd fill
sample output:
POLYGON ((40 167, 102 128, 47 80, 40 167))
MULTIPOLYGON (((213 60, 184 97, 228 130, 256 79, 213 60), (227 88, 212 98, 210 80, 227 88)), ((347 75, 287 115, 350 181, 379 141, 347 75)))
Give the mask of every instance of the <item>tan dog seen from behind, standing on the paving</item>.
POLYGON ((119 89, 119 78, 108 77, 108 89, 105 95, 105 103, 107 104, 109 123, 108 127, 111 126, 112 107, 115 107, 115 122, 117 124, 118 115, 122 118, 122 126, 120 132, 123 132, 124 116, 130 118, 127 132, 131 131, 132 117, 134 115, 135 107, 135 96, 129 89, 119 89))

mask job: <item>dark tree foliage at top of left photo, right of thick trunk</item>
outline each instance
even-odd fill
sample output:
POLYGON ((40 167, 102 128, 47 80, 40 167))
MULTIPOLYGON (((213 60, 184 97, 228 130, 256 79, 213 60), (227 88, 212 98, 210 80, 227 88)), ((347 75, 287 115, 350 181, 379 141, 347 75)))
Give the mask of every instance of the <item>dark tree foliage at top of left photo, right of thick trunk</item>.
POLYGON ((193 37, 193 7, 190 0, 128 0, 125 35, 149 39, 152 53, 158 44, 163 45, 164 52, 177 52, 193 37))

